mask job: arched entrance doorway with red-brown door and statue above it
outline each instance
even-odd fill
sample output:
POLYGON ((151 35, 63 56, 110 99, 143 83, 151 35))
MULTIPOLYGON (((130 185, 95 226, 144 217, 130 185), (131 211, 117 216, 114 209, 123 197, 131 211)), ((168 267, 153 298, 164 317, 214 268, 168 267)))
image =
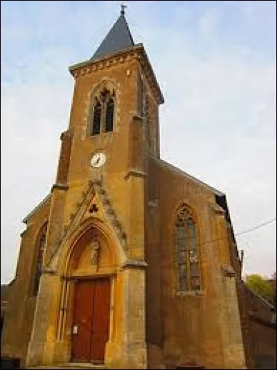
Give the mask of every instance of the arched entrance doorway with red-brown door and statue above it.
POLYGON ((71 362, 105 362, 111 340, 117 258, 109 239, 91 226, 71 247, 64 281, 64 333, 71 333, 71 362))

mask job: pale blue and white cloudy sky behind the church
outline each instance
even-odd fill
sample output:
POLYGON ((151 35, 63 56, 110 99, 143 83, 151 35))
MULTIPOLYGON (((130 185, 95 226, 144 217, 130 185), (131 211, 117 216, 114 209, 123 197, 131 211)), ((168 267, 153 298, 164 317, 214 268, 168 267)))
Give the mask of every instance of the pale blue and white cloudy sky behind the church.
MULTIPOLYGON (((161 158, 226 194, 243 274, 271 276, 276 1, 125 4, 165 98, 161 158)), ((119 12, 120 1, 1 1, 1 283, 14 277, 22 220, 55 182, 69 66, 91 58, 119 12)))

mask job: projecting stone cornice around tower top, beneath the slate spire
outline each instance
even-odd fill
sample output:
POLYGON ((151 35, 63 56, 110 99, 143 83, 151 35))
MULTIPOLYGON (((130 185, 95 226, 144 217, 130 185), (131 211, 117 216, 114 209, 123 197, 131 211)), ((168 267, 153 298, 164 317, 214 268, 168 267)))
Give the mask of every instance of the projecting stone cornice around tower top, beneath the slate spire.
POLYGON ((69 72, 74 78, 80 76, 86 76, 90 73, 96 72, 98 70, 106 69, 112 67, 116 64, 129 62, 130 60, 135 59, 141 65, 145 77, 148 80, 148 83, 154 92, 154 96, 157 99, 159 104, 164 102, 163 94, 157 82, 157 78, 154 74, 154 71, 151 67, 148 55, 145 52, 143 44, 137 44, 130 48, 123 49, 111 55, 107 55, 105 58, 101 59, 90 59, 84 62, 73 64, 69 67, 69 72))

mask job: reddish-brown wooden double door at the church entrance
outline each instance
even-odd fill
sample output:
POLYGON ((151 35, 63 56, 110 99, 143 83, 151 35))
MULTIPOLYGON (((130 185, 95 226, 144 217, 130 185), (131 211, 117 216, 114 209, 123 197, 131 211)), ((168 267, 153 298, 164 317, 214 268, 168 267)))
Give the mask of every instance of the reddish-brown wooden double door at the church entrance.
POLYGON ((80 279, 74 288, 71 360, 102 363, 109 340, 110 280, 80 279))

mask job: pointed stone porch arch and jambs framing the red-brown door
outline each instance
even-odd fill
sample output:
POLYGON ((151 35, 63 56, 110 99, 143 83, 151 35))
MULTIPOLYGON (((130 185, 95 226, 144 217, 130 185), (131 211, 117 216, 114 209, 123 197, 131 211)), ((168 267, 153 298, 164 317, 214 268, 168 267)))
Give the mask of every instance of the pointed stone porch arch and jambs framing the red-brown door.
POLYGON ((84 220, 62 248, 57 263, 57 272, 60 276, 60 304, 56 340, 64 343, 66 361, 71 358, 74 290, 75 283, 78 281, 109 279, 109 342, 114 342, 114 326, 117 320, 114 313, 115 297, 120 290, 117 275, 119 266, 126 258, 127 256, 112 230, 105 226, 102 220, 93 217, 84 220), (100 244, 98 265, 93 264, 92 256, 89 255, 89 247, 93 238, 96 238, 100 244))

